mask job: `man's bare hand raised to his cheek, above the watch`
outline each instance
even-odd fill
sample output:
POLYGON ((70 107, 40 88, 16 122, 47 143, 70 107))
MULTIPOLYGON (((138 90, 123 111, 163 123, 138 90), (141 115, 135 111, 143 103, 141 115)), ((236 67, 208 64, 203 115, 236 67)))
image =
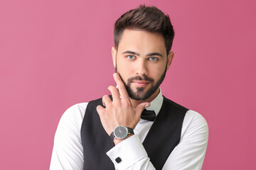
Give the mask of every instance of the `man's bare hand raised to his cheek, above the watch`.
POLYGON ((102 98, 102 103, 106 108, 97 106, 100 121, 108 135, 110 135, 118 125, 134 129, 137 123, 139 123, 142 111, 150 105, 149 103, 140 103, 134 109, 119 74, 114 73, 113 76, 118 86, 118 89, 115 86, 108 87, 112 94, 113 101, 111 101, 109 96, 105 95, 102 98))

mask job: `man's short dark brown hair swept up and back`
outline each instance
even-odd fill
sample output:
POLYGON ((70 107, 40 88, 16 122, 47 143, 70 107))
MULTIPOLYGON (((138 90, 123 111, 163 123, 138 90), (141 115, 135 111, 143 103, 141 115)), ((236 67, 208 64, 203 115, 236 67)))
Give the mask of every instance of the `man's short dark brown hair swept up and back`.
POLYGON ((164 37, 166 53, 169 54, 174 40, 174 28, 168 15, 165 15, 155 6, 140 5, 124 13, 114 23, 114 46, 116 49, 122 38, 124 29, 146 30, 151 33, 160 33, 164 37))

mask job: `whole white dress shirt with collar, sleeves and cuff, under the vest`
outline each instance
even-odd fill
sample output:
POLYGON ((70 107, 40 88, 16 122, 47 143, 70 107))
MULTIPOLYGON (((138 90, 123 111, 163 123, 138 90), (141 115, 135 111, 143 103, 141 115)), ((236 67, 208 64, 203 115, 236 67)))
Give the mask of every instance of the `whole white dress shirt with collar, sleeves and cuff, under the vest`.
MULTIPOLYGON (((161 91, 147 110, 159 113, 163 103, 161 91)), ((60 123, 55 133, 53 154, 50 161, 51 170, 82 169, 83 149, 80 137, 80 128, 85 116, 87 103, 78 103, 68 108, 60 118, 60 123)), ((146 154, 142 142, 149 132, 153 122, 140 120, 134 134, 110 149, 106 154, 114 163, 115 169, 154 169, 146 154), (119 157, 122 162, 117 163, 119 157)), ((181 140, 169 155, 164 170, 196 170, 201 169, 206 155, 208 144, 208 125, 202 115, 196 111, 188 110, 183 120, 181 140)), ((163 147, 163 146, 159 146, 163 147)))

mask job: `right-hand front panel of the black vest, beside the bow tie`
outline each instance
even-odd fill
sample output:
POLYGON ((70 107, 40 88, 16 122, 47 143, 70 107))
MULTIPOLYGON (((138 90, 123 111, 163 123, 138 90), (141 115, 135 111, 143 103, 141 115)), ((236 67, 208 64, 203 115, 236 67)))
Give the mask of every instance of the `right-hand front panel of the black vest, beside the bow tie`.
POLYGON ((164 97, 164 102, 143 142, 146 153, 156 169, 162 169, 166 159, 181 139, 183 118, 188 111, 164 97))

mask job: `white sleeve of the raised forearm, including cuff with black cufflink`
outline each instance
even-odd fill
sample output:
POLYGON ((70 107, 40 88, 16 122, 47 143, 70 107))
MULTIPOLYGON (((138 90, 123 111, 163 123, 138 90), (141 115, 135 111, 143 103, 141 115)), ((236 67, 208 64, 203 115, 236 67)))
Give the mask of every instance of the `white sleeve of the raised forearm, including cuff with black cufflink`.
POLYGON ((137 135, 123 140, 118 145, 107 152, 116 169, 140 169, 140 170, 153 170, 153 164, 149 161, 142 142, 137 135))

